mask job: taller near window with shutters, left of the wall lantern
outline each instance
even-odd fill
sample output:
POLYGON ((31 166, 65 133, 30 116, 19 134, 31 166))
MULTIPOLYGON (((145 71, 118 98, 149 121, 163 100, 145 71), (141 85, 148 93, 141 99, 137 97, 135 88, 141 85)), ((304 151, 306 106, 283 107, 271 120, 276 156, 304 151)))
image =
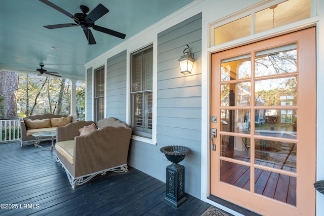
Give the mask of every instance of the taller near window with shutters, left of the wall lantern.
POLYGON ((152 138, 153 47, 131 54, 131 127, 133 134, 152 138))

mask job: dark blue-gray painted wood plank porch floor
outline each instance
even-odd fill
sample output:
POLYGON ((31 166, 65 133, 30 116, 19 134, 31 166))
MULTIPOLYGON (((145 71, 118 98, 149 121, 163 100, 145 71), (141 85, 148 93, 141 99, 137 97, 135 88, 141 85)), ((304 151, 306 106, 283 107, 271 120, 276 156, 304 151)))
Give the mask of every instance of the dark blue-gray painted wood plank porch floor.
POLYGON ((55 150, 0 144, 0 203, 13 208, 2 206, 1 215, 200 215, 211 206, 187 194, 175 209, 163 201, 165 183, 132 167, 72 190, 54 157, 55 150))

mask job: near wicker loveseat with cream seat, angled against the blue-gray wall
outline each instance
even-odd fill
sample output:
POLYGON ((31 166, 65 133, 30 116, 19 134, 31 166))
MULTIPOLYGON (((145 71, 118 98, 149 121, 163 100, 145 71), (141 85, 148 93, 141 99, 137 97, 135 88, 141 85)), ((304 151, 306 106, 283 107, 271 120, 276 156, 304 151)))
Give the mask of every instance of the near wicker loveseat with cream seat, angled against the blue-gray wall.
POLYGON ((111 117, 99 120, 95 124, 98 129, 80 135, 82 128, 93 124, 93 121, 77 121, 57 127, 55 161, 62 164, 72 189, 85 184, 97 174, 128 171, 132 129, 111 117))

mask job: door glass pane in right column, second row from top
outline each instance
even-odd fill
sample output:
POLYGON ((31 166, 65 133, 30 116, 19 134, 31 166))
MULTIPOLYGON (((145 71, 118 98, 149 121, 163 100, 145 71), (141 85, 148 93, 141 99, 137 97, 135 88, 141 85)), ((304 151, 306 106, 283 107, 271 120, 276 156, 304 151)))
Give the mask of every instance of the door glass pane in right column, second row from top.
POLYGON ((297 105, 297 77, 255 81, 255 105, 297 105))

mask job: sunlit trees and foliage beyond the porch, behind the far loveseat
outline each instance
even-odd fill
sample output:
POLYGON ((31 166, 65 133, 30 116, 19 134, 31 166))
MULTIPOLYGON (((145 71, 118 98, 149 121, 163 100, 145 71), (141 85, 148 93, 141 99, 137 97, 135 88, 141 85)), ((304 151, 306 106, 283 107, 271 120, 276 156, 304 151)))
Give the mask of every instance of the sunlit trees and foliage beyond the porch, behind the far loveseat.
MULTIPOLYGON (((76 85, 77 106, 85 109, 85 82, 76 85)), ((18 117, 44 113, 70 114, 71 81, 19 74, 18 117)))

